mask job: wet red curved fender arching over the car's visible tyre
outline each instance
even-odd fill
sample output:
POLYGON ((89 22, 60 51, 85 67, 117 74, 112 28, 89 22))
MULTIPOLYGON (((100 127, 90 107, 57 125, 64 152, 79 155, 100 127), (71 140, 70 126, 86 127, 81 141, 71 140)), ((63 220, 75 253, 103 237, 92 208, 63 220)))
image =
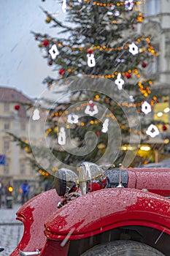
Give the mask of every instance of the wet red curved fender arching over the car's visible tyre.
POLYGON ((52 214, 45 222, 45 235, 74 240, 127 225, 153 227, 170 234, 170 200, 139 189, 90 192, 52 214))

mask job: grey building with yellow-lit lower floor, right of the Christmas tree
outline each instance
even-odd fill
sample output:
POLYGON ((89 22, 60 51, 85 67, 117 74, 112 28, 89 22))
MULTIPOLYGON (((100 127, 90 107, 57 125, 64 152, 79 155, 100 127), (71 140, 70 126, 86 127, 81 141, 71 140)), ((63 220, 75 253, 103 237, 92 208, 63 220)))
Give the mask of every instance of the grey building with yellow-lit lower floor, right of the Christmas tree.
MULTIPOLYGON (((147 62, 146 71, 149 78, 154 80, 150 86, 152 97, 156 99, 152 113, 145 118, 148 124, 157 123, 160 134, 155 138, 146 136, 143 143, 147 151, 139 150, 137 156, 146 159, 147 162, 161 162, 170 159, 170 1, 144 0, 140 6, 144 19, 139 26, 139 31, 149 37, 152 46, 158 51, 158 56, 147 62)), ((147 100, 147 99, 146 99, 147 100)), ((142 145, 142 148, 143 145, 142 145)), ((140 159, 136 157, 136 165, 140 165, 140 159)))

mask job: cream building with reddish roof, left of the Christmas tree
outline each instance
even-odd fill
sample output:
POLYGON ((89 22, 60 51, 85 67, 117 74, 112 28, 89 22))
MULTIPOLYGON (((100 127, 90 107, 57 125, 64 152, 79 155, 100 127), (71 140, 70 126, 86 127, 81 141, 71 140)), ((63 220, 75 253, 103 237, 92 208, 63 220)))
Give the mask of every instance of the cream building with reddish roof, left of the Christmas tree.
POLYGON ((20 148, 9 135, 12 133, 18 138, 31 140, 34 143, 39 140, 41 124, 30 118, 28 105, 32 103, 33 101, 20 91, 0 87, 0 180, 4 185, 10 183, 14 187, 16 200, 20 195, 20 184, 28 180, 34 190, 38 178, 28 159, 27 148, 20 148))

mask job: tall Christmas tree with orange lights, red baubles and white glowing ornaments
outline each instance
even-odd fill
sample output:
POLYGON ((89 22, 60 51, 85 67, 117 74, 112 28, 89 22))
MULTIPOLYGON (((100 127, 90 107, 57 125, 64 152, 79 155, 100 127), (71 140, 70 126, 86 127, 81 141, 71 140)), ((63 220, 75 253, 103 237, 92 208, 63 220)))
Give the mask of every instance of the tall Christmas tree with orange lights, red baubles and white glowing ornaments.
MULTIPOLYGON (((149 35, 142 34, 144 1, 63 0, 65 20, 45 12, 45 22, 60 29, 56 37, 33 32, 55 78, 44 83, 51 91, 65 90, 50 108, 45 121, 49 144, 29 146, 40 163, 41 173, 60 167, 79 170, 83 161, 98 165, 133 162, 142 134, 154 137, 149 127, 158 99, 152 93, 152 77, 146 72, 158 56, 149 35), (123 151, 134 146, 135 151, 123 151), (42 164, 41 159, 46 159, 42 164)), ((35 110, 35 109, 34 109, 35 110)), ((43 111, 40 110, 40 116, 43 111)), ((45 143, 45 141, 44 141, 45 143)), ((47 175, 46 175, 47 176, 47 175)))

